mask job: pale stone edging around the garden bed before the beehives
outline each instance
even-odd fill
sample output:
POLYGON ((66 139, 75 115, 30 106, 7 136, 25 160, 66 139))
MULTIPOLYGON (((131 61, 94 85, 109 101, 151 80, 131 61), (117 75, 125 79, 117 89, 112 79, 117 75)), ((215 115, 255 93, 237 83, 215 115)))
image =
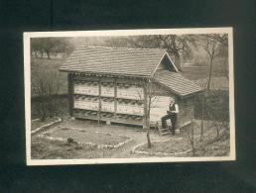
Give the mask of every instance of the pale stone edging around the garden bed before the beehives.
MULTIPOLYGON (((56 130, 58 130, 58 129, 56 129, 56 130)), ((66 142, 66 139, 64 139, 64 138, 53 138, 53 137, 45 136, 46 134, 53 133, 53 132, 55 132, 56 130, 44 132, 42 135, 38 135, 38 137, 40 137, 40 138, 46 138, 46 139, 51 140, 51 141, 66 142)), ((71 129, 71 130, 74 130, 74 129, 71 129)), ((81 129, 79 129, 79 130, 81 130, 81 129)), ((95 134, 103 134, 103 135, 109 135, 109 136, 118 136, 118 137, 128 138, 128 137, 125 137, 125 136, 113 135, 113 134, 110 134, 110 133, 100 133, 100 132, 94 132, 94 133, 95 133, 95 134)), ((110 149, 110 148, 117 148, 117 147, 120 147, 120 146, 122 146, 122 145, 126 145, 126 144, 130 143, 131 141, 133 141, 133 139, 128 138, 126 141, 124 141, 124 142, 122 142, 122 143, 119 143, 119 144, 117 144, 117 145, 97 145, 97 144, 94 144, 94 143, 81 143, 81 142, 76 142, 76 143, 77 143, 78 145, 92 145, 92 146, 96 146, 97 148, 110 149)))

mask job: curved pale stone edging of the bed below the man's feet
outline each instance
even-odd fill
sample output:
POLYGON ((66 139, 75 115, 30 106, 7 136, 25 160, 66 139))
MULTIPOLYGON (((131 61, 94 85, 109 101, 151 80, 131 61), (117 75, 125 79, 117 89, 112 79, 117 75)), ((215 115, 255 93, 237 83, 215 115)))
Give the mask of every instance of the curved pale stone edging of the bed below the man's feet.
MULTIPOLYGON (((155 142, 152 142, 152 143, 166 143, 166 142, 169 142, 169 141, 173 141, 173 140, 182 140, 184 138, 178 138, 178 139, 169 139, 169 140, 166 140, 166 141, 155 141, 155 142)), ((141 145, 146 145, 147 143, 143 143, 143 144, 140 144, 140 145, 136 145, 133 147, 132 149, 132 152, 133 153, 137 153, 137 154, 144 154, 144 155, 156 155, 156 156, 174 156, 174 155, 180 155, 180 154, 185 154, 185 153, 188 153, 190 151, 192 151, 192 149, 189 149, 189 150, 186 150, 186 151, 182 151, 182 152, 148 152, 148 151, 143 151, 143 150, 136 150, 136 148, 138 148, 139 146, 141 145)))

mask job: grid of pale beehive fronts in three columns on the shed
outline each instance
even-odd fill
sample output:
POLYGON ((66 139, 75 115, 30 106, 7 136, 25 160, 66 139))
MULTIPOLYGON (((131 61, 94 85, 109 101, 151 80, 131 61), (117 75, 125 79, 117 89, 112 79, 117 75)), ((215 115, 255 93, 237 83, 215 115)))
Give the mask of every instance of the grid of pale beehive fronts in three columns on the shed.
POLYGON ((144 90, 141 85, 75 80, 73 94, 74 114, 78 117, 88 119, 100 117, 102 120, 142 124, 144 90))

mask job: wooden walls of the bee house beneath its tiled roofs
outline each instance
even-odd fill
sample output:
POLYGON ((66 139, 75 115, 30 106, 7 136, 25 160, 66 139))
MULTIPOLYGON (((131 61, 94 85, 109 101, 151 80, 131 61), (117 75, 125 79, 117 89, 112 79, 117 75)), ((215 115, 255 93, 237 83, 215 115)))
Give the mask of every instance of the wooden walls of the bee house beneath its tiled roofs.
MULTIPOLYGON (((146 126, 148 107, 145 84, 140 79, 68 74, 69 113, 77 118, 146 126)), ((150 119, 154 126, 166 115, 170 98, 179 104, 177 128, 193 119, 193 97, 181 99, 154 83, 150 119)))

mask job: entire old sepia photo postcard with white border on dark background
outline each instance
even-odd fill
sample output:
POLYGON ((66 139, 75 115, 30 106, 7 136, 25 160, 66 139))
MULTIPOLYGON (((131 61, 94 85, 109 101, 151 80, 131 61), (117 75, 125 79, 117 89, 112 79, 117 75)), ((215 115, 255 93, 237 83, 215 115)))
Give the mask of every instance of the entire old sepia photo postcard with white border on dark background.
POLYGON ((24 33, 27 164, 235 160, 232 33, 24 33))

